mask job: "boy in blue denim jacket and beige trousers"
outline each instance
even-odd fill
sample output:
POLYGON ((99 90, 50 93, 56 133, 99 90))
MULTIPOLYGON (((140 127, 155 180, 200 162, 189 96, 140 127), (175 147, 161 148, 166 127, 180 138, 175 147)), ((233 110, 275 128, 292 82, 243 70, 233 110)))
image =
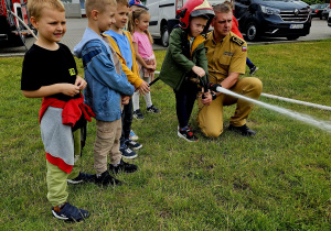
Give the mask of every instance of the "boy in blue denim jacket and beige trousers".
POLYGON ((137 166, 121 160, 119 138, 121 135, 121 109, 129 102, 135 88, 124 74, 114 48, 106 43, 102 32, 108 31, 115 23, 116 0, 86 0, 88 28, 83 40, 74 48, 83 59, 87 88, 84 91, 86 105, 96 114, 97 133, 94 145, 95 182, 97 184, 120 185, 110 176, 122 170, 132 173, 137 166), (109 172, 107 155, 110 157, 109 172))

